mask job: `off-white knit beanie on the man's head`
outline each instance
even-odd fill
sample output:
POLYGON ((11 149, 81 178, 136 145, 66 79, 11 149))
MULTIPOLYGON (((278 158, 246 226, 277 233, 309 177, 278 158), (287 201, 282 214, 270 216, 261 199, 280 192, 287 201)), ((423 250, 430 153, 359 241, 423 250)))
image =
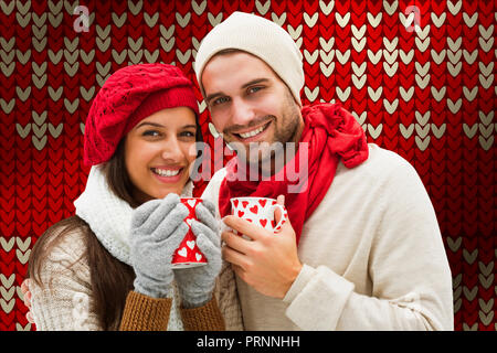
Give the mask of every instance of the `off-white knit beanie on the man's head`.
POLYGON ((207 63, 220 51, 236 49, 264 61, 288 86, 300 103, 304 87, 303 56, 292 36, 276 23, 262 17, 233 12, 214 26, 200 43, 194 69, 202 95, 202 73, 207 63))

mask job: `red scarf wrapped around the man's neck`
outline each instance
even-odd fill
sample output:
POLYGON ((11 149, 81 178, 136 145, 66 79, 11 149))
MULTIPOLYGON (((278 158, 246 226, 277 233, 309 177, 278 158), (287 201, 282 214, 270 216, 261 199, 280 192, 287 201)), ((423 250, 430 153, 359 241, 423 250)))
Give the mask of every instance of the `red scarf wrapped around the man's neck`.
POLYGON ((272 176, 272 180, 248 181, 248 172, 245 173, 246 181, 235 180, 240 172, 236 157, 228 162, 228 174, 221 183, 219 194, 219 210, 222 217, 231 214, 230 199, 232 197, 276 199, 278 195, 285 195, 285 206, 298 244, 304 222, 325 197, 340 159, 347 168, 353 168, 368 158, 364 131, 353 116, 340 105, 305 106, 302 115, 305 127, 297 153, 282 171, 272 176), (307 168, 304 167, 300 170, 299 153, 305 153, 304 148, 307 148, 308 153, 307 168), (294 176, 286 178, 297 174, 293 171, 298 173, 298 180, 294 176), (299 183, 304 184, 300 192, 288 192, 288 188, 296 188, 299 183))

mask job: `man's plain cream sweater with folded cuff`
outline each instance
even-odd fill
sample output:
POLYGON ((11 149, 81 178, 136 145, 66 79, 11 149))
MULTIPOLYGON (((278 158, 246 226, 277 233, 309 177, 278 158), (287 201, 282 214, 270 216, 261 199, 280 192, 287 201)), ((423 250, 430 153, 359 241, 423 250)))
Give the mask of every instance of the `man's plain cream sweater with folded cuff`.
MULTIPOLYGON (((246 330, 454 329, 451 270, 423 183, 400 156, 369 152, 359 167, 339 164, 304 224, 304 268, 283 300, 236 278, 246 330)), ((218 205, 224 176, 202 197, 218 205)))

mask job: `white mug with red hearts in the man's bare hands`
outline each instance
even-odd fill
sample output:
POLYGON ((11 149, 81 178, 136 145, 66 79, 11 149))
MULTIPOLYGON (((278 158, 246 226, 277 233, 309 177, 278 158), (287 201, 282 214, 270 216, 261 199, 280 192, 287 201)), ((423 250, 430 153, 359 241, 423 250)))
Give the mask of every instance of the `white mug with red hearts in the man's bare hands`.
MULTIPOLYGON (((282 225, 288 217, 285 206, 278 204, 274 199, 233 197, 230 201, 233 215, 274 233, 282 229, 282 225), (276 208, 279 208, 282 212, 282 217, 277 224, 274 220, 274 211, 276 208)), ((236 234, 236 231, 234 233, 236 234)))

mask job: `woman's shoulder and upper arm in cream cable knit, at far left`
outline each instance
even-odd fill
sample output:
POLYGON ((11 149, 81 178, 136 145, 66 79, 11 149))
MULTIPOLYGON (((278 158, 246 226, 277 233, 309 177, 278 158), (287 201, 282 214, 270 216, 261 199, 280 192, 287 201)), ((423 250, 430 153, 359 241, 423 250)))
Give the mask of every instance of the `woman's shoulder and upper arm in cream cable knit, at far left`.
POLYGON ((86 225, 70 217, 47 228, 29 264, 31 312, 36 329, 98 330, 87 260, 86 225))

